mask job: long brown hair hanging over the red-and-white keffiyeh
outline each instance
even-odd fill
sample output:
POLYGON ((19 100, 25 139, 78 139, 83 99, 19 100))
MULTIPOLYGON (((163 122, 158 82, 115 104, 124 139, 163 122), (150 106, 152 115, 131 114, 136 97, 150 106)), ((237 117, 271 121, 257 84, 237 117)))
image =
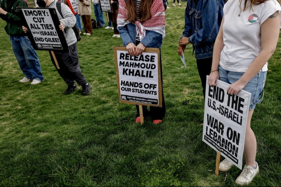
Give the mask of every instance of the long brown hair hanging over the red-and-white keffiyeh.
MULTIPOLYGON (((151 18, 151 6, 153 0, 142 0, 140 7, 140 19, 141 23, 151 18)), ((136 0, 126 0, 126 9, 128 11, 128 17, 125 21, 135 22, 138 20, 139 15, 137 14, 136 0)))

